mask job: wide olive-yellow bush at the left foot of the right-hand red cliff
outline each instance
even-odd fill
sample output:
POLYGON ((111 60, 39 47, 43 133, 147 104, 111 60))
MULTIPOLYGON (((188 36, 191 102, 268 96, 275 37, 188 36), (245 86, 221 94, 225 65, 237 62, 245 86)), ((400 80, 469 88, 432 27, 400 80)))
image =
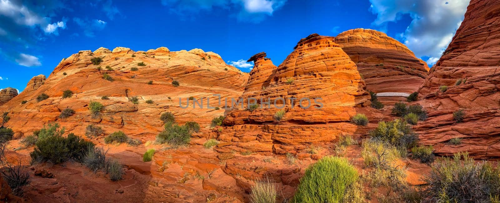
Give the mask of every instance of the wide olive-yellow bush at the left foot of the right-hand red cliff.
POLYGON ((380 121, 369 134, 373 139, 390 143, 404 151, 415 146, 418 141, 418 136, 413 133, 411 127, 400 119, 380 121))

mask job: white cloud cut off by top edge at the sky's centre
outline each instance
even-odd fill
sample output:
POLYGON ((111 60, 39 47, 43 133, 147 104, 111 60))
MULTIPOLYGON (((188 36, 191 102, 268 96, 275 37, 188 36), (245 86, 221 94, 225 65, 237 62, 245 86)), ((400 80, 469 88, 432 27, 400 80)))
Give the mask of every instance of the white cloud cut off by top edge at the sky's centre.
POLYGON ((233 13, 240 21, 260 22, 266 16, 284 5, 286 0, 161 0, 169 12, 183 18, 192 18, 192 13, 211 11, 212 9, 237 10, 233 13))

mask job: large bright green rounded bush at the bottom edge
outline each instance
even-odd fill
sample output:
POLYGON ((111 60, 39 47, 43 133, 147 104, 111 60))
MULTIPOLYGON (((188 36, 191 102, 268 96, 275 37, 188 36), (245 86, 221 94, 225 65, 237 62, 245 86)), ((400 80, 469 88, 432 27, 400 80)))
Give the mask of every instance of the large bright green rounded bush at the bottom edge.
POLYGON ((333 156, 321 158, 307 167, 293 196, 295 203, 339 203, 348 187, 358 178, 347 159, 333 156))

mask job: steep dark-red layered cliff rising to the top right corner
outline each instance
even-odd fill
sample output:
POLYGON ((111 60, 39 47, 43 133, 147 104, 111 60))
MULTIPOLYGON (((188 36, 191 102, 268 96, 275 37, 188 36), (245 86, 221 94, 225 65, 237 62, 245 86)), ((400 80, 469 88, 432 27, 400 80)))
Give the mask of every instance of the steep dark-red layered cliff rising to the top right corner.
POLYGON ((451 155, 500 157, 500 1, 471 0, 465 19, 419 90, 430 111, 418 126, 423 144, 451 155), (447 86, 441 87, 441 86, 447 86), (441 90, 439 90, 441 87, 441 90), (463 122, 453 119, 462 109, 463 122), (448 140, 462 138, 462 144, 448 140))

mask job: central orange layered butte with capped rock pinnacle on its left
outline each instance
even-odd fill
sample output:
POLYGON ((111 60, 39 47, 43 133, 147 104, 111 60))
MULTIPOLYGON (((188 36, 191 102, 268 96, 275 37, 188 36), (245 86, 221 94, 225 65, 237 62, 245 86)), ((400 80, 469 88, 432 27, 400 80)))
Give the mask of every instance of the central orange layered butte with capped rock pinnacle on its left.
POLYGON ((258 107, 250 111, 234 106, 224 119, 229 127, 218 134, 227 146, 216 150, 294 153, 356 130, 348 120, 356 113, 354 106, 369 105, 370 97, 356 65, 333 37, 311 34, 301 39, 277 68, 264 56, 250 58, 255 68, 243 93, 245 102, 254 98, 258 107), (293 103, 290 98, 295 98, 293 103), (281 106, 285 114, 277 121, 281 106))

